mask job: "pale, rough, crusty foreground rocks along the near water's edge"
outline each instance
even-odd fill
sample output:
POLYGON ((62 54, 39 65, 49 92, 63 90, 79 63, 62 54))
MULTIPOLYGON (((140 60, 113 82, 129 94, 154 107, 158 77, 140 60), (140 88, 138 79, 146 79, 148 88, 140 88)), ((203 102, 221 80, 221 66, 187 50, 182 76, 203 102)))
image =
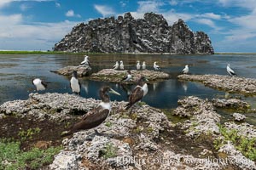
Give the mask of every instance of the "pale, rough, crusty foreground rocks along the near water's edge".
MULTIPOLYGON (((99 102, 73 94, 30 94, 27 100, 1 105, 0 120, 32 116, 38 122, 65 122, 78 119, 99 102)), ((113 101, 111 115, 97 128, 103 134, 91 129, 61 139, 63 149, 45 169, 255 169, 255 158, 248 159, 226 135, 235 129, 237 138, 253 140, 255 126, 236 122, 220 126, 222 116, 215 111, 217 105, 246 110, 247 104, 241 100, 224 103, 194 96, 181 99, 171 114, 187 120, 174 124, 160 109, 140 104, 125 111, 127 102, 113 101)))

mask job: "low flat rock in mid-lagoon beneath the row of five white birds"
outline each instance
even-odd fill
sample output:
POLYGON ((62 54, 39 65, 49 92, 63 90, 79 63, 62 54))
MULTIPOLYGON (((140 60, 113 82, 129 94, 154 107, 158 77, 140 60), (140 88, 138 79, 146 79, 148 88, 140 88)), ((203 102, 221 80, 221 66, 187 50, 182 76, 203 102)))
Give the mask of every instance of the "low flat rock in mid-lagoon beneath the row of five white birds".
MULTIPOLYGON (((90 80, 97 80, 103 82, 122 82, 122 78, 125 77, 127 71, 116 71, 113 69, 103 69, 102 71, 93 73, 90 77, 90 80)), ((169 78, 169 75, 162 71, 136 71, 131 70, 132 78, 130 81, 122 82, 125 84, 135 84, 138 77, 144 76, 148 79, 149 82, 159 82, 169 78)))

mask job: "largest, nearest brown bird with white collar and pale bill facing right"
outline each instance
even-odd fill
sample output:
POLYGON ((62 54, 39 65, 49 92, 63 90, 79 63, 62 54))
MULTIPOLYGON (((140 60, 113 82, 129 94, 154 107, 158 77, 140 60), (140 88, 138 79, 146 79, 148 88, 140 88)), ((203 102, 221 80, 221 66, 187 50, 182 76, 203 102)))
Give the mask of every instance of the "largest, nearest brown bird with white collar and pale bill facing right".
POLYGON ((79 132, 80 130, 86 130, 101 125, 102 122, 107 119, 111 111, 111 103, 108 93, 120 95, 108 86, 100 88, 99 94, 102 102, 97 105, 96 108, 88 111, 78 123, 70 127, 69 131, 61 134, 61 136, 67 136, 79 132))

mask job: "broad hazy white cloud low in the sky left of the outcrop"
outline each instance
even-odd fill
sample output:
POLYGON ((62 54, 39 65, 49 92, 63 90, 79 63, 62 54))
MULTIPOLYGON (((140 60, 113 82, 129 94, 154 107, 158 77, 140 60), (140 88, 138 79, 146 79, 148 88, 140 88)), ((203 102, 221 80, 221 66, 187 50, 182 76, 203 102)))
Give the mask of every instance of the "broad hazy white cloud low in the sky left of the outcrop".
POLYGON ((31 23, 22 14, 0 15, 0 47, 8 50, 47 50, 63 38, 77 22, 31 23))

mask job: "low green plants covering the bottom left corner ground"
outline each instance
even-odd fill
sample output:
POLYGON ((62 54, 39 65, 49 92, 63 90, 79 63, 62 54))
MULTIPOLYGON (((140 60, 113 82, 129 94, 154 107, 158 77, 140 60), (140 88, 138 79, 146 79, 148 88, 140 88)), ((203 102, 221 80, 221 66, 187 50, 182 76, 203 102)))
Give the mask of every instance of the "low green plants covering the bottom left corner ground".
POLYGON ((46 150, 32 148, 20 150, 20 141, 0 139, 0 170, 38 169, 53 161, 61 146, 49 147, 46 150))

